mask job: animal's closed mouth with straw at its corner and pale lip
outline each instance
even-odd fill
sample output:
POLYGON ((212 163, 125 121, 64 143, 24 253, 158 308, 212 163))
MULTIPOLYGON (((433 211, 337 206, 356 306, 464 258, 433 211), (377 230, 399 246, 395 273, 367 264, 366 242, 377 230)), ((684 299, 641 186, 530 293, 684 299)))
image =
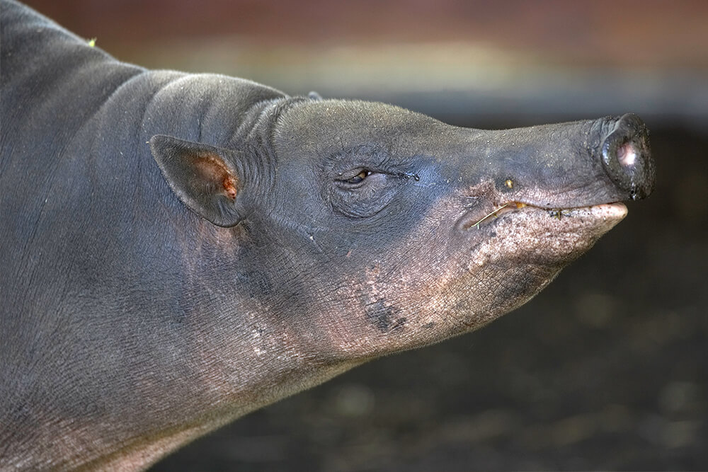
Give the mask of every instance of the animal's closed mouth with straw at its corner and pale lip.
MULTIPOLYGON (((525 202, 506 202, 501 205, 494 205, 490 211, 480 214, 479 209, 474 209, 462 217, 459 222, 463 229, 481 229, 485 226, 493 225, 504 215, 526 214, 536 218, 546 215, 549 219, 576 218, 585 221, 610 221, 616 224, 627 216, 627 207, 621 202, 603 203, 599 205, 569 207, 569 208, 544 208, 537 207, 525 202)), ((613 225, 614 226, 614 225, 613 225)))

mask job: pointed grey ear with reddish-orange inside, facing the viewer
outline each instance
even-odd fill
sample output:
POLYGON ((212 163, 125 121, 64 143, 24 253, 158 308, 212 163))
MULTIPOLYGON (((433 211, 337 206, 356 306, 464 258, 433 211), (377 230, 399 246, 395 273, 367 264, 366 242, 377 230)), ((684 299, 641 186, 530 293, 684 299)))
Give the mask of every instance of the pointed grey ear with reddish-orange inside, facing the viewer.
POLYGON ((150 139, 150 150, 172 191, 193 212, 217 226, 239 224, 234 151, 162 135, 150 139))

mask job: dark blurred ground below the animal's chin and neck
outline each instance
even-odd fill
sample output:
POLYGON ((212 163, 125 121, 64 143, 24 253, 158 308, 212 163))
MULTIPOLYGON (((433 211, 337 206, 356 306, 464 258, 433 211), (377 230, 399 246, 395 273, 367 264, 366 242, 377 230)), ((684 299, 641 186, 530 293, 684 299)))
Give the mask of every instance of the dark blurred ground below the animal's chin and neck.
POLYGON ((708 134, 649 127, 654 194, 522 309, 252 413, 152 470, 706 470, 708 134))

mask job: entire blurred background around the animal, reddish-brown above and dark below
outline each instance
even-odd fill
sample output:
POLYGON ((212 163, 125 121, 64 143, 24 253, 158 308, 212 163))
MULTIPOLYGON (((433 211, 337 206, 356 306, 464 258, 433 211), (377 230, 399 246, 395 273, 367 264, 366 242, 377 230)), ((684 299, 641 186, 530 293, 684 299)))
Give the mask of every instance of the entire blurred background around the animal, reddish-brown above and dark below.
POLYGON ((120 60, 454 125, 632 111, 649 200, 529 304, 234 422, 153 471, 708 468, 708 2, 28 0, 120 60))

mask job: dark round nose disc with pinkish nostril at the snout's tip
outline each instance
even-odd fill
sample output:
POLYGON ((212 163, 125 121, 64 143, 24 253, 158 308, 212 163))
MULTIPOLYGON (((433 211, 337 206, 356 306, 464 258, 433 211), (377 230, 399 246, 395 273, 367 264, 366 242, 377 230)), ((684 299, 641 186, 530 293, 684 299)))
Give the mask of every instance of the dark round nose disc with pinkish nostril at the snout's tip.
POLYGON ((654 187, 654 166, 644 121, 627 113, 608 122, 605 129, 607 136, 600 144, 605 172, 632 200, 648 196, 654 187))

